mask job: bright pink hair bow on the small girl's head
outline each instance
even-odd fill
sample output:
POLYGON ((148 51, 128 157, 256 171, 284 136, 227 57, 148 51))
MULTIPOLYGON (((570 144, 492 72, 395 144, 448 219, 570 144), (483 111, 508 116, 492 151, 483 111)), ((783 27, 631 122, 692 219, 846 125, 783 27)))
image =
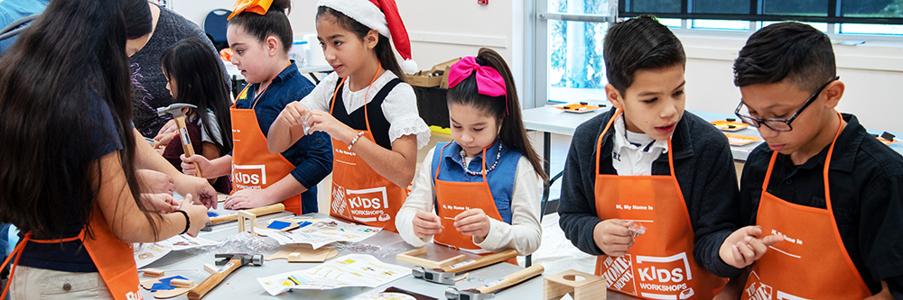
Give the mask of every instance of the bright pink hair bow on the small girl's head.
POLYGON ((452 69, 449 71, 449 87, 457 86, 474 72, 477 73, 477 92, 494 97, 505 95, 505 114, 509 114, 505 78, 502 78, 495 68, 480 66, 477 59, 472 56, 464 57, 452 65, 452 69))

